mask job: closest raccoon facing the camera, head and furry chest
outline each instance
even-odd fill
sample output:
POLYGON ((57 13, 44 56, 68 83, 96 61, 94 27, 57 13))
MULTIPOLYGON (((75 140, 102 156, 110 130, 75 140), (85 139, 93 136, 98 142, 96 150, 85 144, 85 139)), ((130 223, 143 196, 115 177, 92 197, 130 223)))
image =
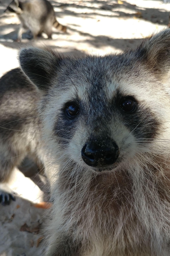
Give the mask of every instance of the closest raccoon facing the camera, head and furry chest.
POLYGON ((20 51, 59 165, 46 256, 170 255, 169 51, 170 30, 118 55, 20 51))

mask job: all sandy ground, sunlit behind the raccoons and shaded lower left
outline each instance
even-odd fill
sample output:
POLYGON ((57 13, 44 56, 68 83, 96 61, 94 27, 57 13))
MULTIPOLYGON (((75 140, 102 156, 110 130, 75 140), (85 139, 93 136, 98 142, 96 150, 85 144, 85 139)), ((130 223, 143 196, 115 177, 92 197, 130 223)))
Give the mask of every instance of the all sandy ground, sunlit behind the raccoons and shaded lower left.
MULTIPOLYGON (((22 46, 47 45, 76 56, 135 48, 145 36, 167 27, 170 12, 169 3, 157 0, 53 0, 56 17, 68 27, 67 34, 54 29, 52 40, 45 34, 29 40, 30 35, 24 34, 23 42, 17 43, 19 20, 15 14, 3 14, 9 2, 0 1, 0 76, 18 67, 17 52, 22 46)), ((31 203, 42 202, 44 197, 37 167, 31 166, 27 162, 20 168, 29 177, 16 168, 10 185, 18 193, 17 199, 9 206, 0 205, 0 256, 42 255, 45 238, 39 242, 47 210, 31 203)))

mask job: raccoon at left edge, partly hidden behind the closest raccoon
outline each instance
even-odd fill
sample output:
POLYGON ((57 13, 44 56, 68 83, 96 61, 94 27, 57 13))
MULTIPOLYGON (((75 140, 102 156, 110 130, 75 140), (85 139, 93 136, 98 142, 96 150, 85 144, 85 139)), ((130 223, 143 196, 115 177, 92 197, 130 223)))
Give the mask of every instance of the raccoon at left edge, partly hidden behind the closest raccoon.
POLYGON ((51 169, 49 161, 44 162, 47 154, 40 139, 35 89, 16 68, 0 79, 0 91, 0 203, 6 205, 15 200, 9 182, 26 156, 42 169, 42 174, 43 164, 48 171, 51 169))

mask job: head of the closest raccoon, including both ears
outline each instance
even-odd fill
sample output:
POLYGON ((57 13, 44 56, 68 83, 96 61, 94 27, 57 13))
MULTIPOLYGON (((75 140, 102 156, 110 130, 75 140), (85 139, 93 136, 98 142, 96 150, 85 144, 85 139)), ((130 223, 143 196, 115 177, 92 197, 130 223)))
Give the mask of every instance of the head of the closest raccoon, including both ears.
POLYGON ((44 133, 55 158, 101 172, 160 150, 169 113, 169 49, 165 30, 118 55, 73 59, 21 50, 21 68, 42 95, 44 133))

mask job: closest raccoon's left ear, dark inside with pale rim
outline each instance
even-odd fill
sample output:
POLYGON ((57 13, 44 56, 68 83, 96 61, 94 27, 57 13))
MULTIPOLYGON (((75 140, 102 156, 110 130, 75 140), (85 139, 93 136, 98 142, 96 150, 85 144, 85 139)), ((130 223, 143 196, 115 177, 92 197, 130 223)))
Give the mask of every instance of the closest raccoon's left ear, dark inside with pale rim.
POLYGON ((23 48, 19 53, 19 61, 22 71, 36 89, 45 93, 52 78, 57 75, 59 67, 57 54, 50 49, 23 48))

